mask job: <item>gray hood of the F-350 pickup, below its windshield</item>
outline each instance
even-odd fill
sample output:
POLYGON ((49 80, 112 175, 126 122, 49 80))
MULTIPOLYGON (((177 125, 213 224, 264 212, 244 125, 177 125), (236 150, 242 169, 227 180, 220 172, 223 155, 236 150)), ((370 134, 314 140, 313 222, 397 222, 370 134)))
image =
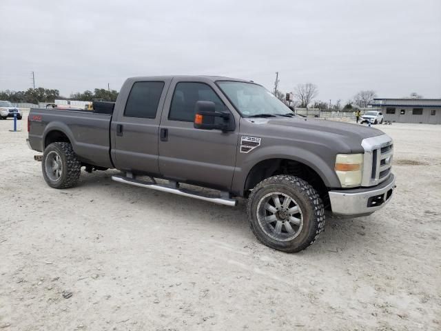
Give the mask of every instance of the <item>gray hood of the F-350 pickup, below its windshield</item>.
MULTIPOLYGON (((346 146, 346 150, 362 152, 362 140, 384 134, 381 130, 352 123, 327 121, 324 119, 309 119, 304 117, 274 117, 265 119, 245 119, 254 125, 262 126, 265 134, 272 137, 300 139, 302 141, 317 141, 323 145, 331 144, 346 146)), ((343 152, 343 151, 342 151, 343 152)))

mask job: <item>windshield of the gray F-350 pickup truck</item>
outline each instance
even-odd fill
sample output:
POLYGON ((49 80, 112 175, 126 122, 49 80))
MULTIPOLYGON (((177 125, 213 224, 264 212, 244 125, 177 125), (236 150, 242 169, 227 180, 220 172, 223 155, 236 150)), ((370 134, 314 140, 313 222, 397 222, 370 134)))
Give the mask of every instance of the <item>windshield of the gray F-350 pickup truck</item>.
POLYGON ((217 81, 243 117, 294 114, 285 103, 260 85, 241 81, 217 81))

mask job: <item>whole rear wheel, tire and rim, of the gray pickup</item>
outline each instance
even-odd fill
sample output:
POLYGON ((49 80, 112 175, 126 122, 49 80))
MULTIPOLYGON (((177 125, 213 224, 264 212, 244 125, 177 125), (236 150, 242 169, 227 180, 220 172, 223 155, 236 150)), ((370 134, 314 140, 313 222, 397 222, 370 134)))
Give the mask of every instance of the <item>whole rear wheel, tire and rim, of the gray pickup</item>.
POLYGON ((81 174, 81 162, 76 159, 70 143, 51 143, 46 147, 41 168, 51 188, 72 188, 81 174))

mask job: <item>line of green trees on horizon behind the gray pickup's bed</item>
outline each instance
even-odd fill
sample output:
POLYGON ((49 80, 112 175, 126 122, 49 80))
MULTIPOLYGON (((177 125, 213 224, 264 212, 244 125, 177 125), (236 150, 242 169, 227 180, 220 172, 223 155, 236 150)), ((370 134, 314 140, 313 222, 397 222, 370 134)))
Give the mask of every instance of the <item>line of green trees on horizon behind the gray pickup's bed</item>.
POLYGON ((93 101, 94 99, 104 99, 105 101, 116 101, 118 91, 106 90, 105 88, 95 88, 94 91, 86 90, 70 94, 70 97, 63 97, 60 91, 49 88, 28 88, 25 91, 0 91, 0 100, 11 101, 13 103, 34 103, 39 102, 54 103, 55 99, 93 101))

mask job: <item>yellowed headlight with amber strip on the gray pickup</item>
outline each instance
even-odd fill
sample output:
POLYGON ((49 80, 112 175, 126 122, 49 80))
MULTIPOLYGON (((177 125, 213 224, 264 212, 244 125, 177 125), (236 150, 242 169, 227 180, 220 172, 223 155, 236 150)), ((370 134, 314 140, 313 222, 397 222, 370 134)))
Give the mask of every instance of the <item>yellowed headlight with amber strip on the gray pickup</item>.
POLYGON ((363 154, 337 154, 336 173, 342 188, 361 185, 363 154))

